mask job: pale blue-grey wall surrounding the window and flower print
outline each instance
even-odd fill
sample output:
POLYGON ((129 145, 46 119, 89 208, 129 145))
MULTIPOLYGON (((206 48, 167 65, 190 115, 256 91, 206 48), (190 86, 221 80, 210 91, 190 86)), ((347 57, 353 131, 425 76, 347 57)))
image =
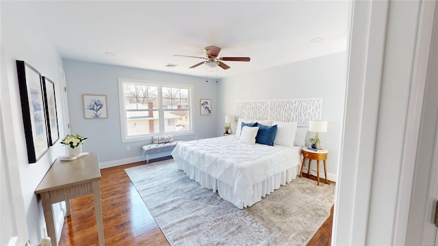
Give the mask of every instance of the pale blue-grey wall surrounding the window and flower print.
POLYGON ((122 143, 120 134, 120 109, 118 104, 118 78, 145 79, 194 86, 193 126, 194 134, 175 136, 175 140, 193 140, 216 136, 218 83, 205 82, 205 78, 190 77, 168 72, 156 72, 64 59, 67 80, 68 108, 71 133, 88 137, 83 144, 84 152, 97 152, 101 167, 127 164, 142 159, 141 147, 151 139, 122 143), (84 119, 82 94, 107 96, 107 119, 84 119), (211 99, 212 114, 200 115, 199 100, 211 99), (131 147, 131 151, 127 150, 131 147))

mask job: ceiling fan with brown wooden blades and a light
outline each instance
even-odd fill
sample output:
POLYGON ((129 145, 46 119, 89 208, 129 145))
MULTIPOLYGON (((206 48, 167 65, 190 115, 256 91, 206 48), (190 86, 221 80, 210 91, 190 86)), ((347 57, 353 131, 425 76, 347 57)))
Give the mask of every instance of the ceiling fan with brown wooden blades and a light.
POLYGON ((227 64, 224 64, 222 61, 250 61, 250 57, 219 57, 220 48, 217 46, 207 46, 204 49, 205 57, 196 57, 191 55, 175 55, 175 56, 182 56, 182 57, 194 57, 194 58, 201 58, 205 59, 205 61, 201 61, 198 64, 194 64, 190 68, 196 68, 197 66, 201 64, 206 64, 207 66, 214 68, 216 66, 220 66, 222 69, 228 69, 230 66, 227 64))

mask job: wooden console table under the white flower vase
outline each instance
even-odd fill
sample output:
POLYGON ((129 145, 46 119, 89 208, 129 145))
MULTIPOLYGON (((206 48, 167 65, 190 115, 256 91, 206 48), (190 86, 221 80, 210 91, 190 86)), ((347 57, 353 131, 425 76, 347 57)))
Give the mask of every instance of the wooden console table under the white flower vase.
POLYGON ((96 214, 99 246, 105 245, 103 238, 103 217, 101 208, 101 192, 99 180, 101 170, 96 152, 91 152, 75 161, 57 159, 42 178, 35 190, 41 197, 47 234, 51 245, 57 246, 55 225, 53 222, 52 204, 66 201, 67 215, 70 215, 69 200, 75 197, 94 194, 94 212, 96 214))

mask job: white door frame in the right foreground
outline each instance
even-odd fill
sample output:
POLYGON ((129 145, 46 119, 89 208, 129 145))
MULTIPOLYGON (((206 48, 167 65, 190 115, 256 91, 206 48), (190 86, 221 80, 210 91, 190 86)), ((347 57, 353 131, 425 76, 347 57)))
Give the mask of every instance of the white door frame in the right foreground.
MULTIPOLYGON (((414 57, 411 62, 411 79, 406 107, 407 117, 404 122, 404 138, 400 148, 400 170, 394 175, 398 177, 398 187, 394 193, 396 211, 385 223, 392 225, 392 234, 385 238, 385 243, 404 245, 409 201, 411 200, 411 185, 413 180, 413 167, 417 152, 417 137, 420 131, 420 115, 423 104, 424 84, 427 71, 428 49, 430 46, 431 23, 433 14, 430 14, 430 4, 435 1, 413 1, 418 10, 402 10, 415 14, 418 11, 418 23, 415 38, 414 57)), ((373 194, 383 184, 381 176, 376 176, 374 163, 382 161, 376 159, 377 146, 382 146, 382 139, 378 137, 381 101, 387 100, 387 94, 381 94, 383 81, 381 66, 388 56, 385 45, 387 37, 391 35, 387 29, 400 24, 400 16, 391 16, 397 13, 400 2, 391 1, 353 1, 351 12, 351 27, 348 40, 348 90, 346 94, 346 108, 344 116, 344 132, 342 137, 341 161, 338 167, 339 185, 337 185, 335 213, 333 218, 332 245, 366 245, 368 239, 375 235, 378 225, 376 213, 371 209, 376 207, 378 197, 373 194), (392 10, 391 10, 392 8, 392 10), (393 12, 391 12, 393 11, 393 12), (395 11, 395 12, 394 12, 395 11), (392 22, 392 23, 391 23, 392 22), (385 25, 386 23, 386 25, 385 25), (389 25, 389 23, 391 25, 389 25), (354 81, 354 83, 352 83, 354 81), (367 97, 368 95, 368 97, 367 97), (372 100, 370 95, 375 96, 372 100), (378 98, 378 100, 375 100, 378 98), (366 120, 364 120, 366 119, 366 120), (348 165, 346 164, 348 163, 348 165)), ((433 10, 434 8, 432 8, 433 10)), ((404 20, 406 21, 406 20, 404 20)), ((400 26, 400 25, 399 25, 400 26)), ((394 52, 394 51, 393 51, 394 52)), ((400 51, 401 52, 401 51, 400 51)), ((394 54, 393 54, 394 55, 394 54)), ((394 57, 391 57, 394 59, 394 57)), ((391 72, 391 70, 389 70, 391 72)), ((404 84, 406 86, 406 84, 404 84)), ((381 120, 380 124, 387 119, 381 120)), ((391 124, 391 122, 386 122, 391 124)), ((382 225, 380 225, 382 226, 382 225)))

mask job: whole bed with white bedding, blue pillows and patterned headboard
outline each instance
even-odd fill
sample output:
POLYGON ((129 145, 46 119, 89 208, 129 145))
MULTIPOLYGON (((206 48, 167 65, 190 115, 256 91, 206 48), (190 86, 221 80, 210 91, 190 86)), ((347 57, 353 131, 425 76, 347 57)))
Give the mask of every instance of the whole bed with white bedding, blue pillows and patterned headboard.
POLYGON ((322 98, 237 101, 235 115, 235 135, 179 143, 172 157, 190 179, 242 209, 296 178, 308 122, 321 118, 322 98), (268 141, 259 141, 266 131, 268 141), (248 140, 256 135, 258 143, 248 140))

